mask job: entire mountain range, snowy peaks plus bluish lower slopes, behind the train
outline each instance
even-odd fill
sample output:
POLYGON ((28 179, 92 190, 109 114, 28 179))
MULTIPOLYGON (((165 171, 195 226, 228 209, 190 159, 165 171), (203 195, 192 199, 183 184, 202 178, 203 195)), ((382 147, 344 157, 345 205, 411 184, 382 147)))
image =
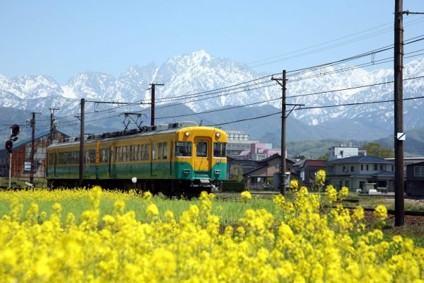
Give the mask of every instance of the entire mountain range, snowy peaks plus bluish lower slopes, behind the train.
MULTIPOLYGON (((122 105, 112 108, 112 105, 87 103, 88 129, 115 130, 122 127, 123 117, 118 116, 119 112, 129 110, 146 110, 144 124, 149 124, 149 83, 164 83, 164 86, 157 86, 155 91, 158 123, 204 120, 204 125, 224 124, 220 127, 243 129, 254 139, 275 135, 273 140, 278 140, 280 115, 225 124, 269 115, 281 109, 281 100, 278 99, 281 98, 281 87, 271 81, 270 77, 266 77, 268 75, 257 73, 242 62, 213 57, 200 50, 172 57, 160 67, 153 63, 144 67, 131 66, 117 78, 92 71, 76 74, 64 86, 47 75, 6 78, 0 74, 0 105, 17 110, 36 110, 45 115, 49 113, 49 108, 60 108, 56 115, 65 117, 61 120, 61 127, 66 128, 77 121, 73 115, 80 112, 81 98, 90 101, 142 101, 142 105, 126 108, 122 105), (264 79, 258 79, 261 77, 264 79), (227 86, 234 87, 225 88, 227 86), (208 92, 211 90, 216 91, 208 92), (254 104, 259 101, 268 102, 254 104), (249 107, 217 112, 229 106, 251 104, 249 107), (108 115, 102 116, 102 112, 93 113, 102 110, 103 114, 108 115), (208 113, 203 113, 206 111, 208 113), (187 114, 189 115, 181 116, 187 114), (104 121, 90 125, 90 117, 92 120, 98 121, 99 119, 94 118, 98 117, 104 121)), ((281 77, 281 74, 276 76, 281 77)), ((424 96, 424 79, 411 79, 420 76, 424 76, 424 58, 405 65, 404 98, 419 97, 404 103, 405 129, 424 127, 424 111, 421 110, 424 100, 420 99, 424 96)), ((322 67, 298 75, 290 74, 287 103, 303 104, 305 109, 294 110, 290 114, 288 139, 336 137, 365 140, 387 137, 393 132, 393 103, 363 103, 393 99, 391 81, 392 69, 366 71, 346 65, 322 67), (337 91, 346 88, 346 91, 337 91), (357 105, 317 108, 349 103, 357 105)))

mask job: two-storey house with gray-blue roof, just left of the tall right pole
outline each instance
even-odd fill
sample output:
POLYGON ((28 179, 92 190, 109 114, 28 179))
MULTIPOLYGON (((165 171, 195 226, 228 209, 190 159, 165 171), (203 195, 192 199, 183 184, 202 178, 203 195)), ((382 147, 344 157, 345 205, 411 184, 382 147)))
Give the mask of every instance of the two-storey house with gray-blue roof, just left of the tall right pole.
POLYGON ((374 188, 381 191, 394 190, 394 161, 374 156, 351 156, 328 161, 326 184, 340 190, 367 192, 374 188))

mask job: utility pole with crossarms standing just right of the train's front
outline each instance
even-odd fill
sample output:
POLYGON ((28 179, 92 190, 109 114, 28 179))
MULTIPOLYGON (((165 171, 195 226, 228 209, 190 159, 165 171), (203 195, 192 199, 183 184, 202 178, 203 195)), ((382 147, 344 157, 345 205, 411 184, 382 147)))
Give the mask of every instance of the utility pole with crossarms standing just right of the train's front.
POLYGON ((285 164, 285 120, 287 119, 288 115, 295 109, 296 106, 303 106, 304 104, 287 104, 285 103, 285 91, 286 88, 286 76, 285 76, 285 70, 283 70, 283 79, 275 79, 271 78, 271 81, 276 81, 281 86, 281 166, 280 166, 280 193, 281 195, 285 196, 285 171, 287 171, 286 164, 285 164), (280 82, 282 81, 282 82, 280 82), (290 110, 288 115, 285 115, 285 106, 286 105, 292 105, 293 108, 290 110))

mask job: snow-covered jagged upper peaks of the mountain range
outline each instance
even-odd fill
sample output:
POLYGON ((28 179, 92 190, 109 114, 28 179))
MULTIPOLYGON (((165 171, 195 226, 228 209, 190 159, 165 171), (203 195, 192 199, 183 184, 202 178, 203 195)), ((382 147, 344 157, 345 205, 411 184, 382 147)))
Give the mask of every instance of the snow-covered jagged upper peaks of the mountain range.
MULTIPOLYGON (((266 75, 249 69, 242 62, 212 57, 211 54, 201 50, 172 57, 159 68, 153 63, 145 67, 131 66, 119 78, 101 72, 76 74, 66 86, 59 86, 52 77, 45 75, 17 76, 11 79, 0 75, 0 103, 4 107, 22 110, 47 113, 49 107, 56 107, 61 108, 59 113, 78 114, 81 98, 148 102, 151 96, 148 91, 149 83, 155 82, 165 83, 165 86, 156 88, 158 99, 156 105, 184 103, 192 110, 201 112, 228 105, 247 105, 261 100, 272 100, 267 104, 281 108, 281 100, 277 99, 281 97, 280 86, 269 78, 255 81, 266 75), (220 90, 225 86, 246 81, 251 82, 235 86, 230 91, 220 90), (205 93, 214 89, 218 91, 205 93), (182 100, 181 96, 187 99, 182 100)), ((416 76, 424 76, 424 58, 416 59, 404 67, 404 79, 416 76)), ((305 108, 393 99, 393 83, 355 88, 393 81, 391 69, 365 71, 347 66, 325 67, 298 76, 290 76, 288 79, 287 103, 305 104, 305 108), (338 71, 341 69, 346 70, 338 71), (307 79, 308 77, 311 78, 307 79), (343 88, 352 89, 322 93, 343 88), (319 94, 299 96, 310 93, 319 94)), ((424 79, 404 81, 404 98, 418 96, 424 96, 424 79)), ((421 99, 404 102, 406 129, 424 126, 423 103, 424 100, 421 99)), ((169 109, 172 111, 172 108, 169 109)), ((384 129, 391 127, 393 122, 393 103, 296 110, 292 115, 309 125, 326 122, 338 125, 337 120, 354 120, 384 129)), ((346 122, 344 123, 346 125, 346 122)))

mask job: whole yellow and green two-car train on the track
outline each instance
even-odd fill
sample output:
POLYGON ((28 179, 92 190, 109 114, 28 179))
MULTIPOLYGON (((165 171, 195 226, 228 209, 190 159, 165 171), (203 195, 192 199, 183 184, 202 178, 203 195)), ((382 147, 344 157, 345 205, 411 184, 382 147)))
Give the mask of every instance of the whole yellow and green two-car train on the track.
MULTIPOLYGON (((225 180, 227 134, 196 122, 147 126, 132 132, 90 135, 83 147, 83 185, 137 187, 175 195, 211 190, 225 180)), ((76 187, 80 141, 47 148, 51 187, 76 187)))

